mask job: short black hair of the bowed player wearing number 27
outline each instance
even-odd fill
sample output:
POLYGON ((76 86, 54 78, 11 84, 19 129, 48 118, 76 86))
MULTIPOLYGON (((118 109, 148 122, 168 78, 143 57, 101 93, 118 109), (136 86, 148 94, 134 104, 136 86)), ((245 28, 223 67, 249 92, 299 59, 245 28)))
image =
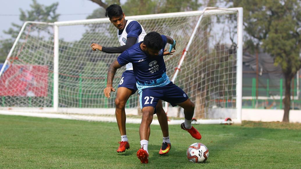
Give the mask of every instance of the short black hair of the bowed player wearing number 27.
POLYGON ((149 32, 144 36, 143 44, 146 45, 147 48, 160 50, 163 48, 163 39, 158 32, 149 32))

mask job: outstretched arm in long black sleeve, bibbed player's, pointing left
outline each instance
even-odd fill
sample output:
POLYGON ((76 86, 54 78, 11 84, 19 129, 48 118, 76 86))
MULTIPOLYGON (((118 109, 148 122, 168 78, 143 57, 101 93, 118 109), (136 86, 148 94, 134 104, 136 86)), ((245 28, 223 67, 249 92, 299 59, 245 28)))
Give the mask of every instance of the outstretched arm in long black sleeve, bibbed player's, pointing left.
POLYGON ((108 54, 121 54, 123 51, 128 49, 129 47, 133 46, 137 41, 136 37, 128 37, 126 39, 126 45, 118 46, 118 47, 104 47, 101 45, 98 45, 96 43, 92 43, 91 48, 93 51, 99 50, 103 51, 108 54))

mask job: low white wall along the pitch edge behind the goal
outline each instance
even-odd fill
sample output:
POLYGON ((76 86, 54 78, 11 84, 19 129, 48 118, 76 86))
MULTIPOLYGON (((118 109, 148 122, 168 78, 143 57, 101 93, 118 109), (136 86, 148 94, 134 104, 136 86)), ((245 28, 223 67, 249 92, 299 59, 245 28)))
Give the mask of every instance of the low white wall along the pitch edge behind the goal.
MULTIPOLYGON (((61 113, 63 113, 63 115, 69 115, 69 113, 75 113, 75 112, 79 113, 79 114, 96 114, 96 115, 101 115, 105 112, 105 114, 115 115, 115 109, 113 109, 113 108, 105 109, 105 111, 104 111, 104 109, 88 109, 87 110, 87 109, 76 109, 76 108, 60 108, 59 111, 61 113)), ((179 111, 178 107, 169 107, 167 116, 176 117, 178 111, 179 111)), ((7 114, 7 115, 22 115, 22 113, 23 113, 23 115, 27 115, 27 116, 40 117, 41 115, 45 114, 44 112, 47 114, 47 116, 45 116, 45 117, 55 118, 50 115, 51 114, 50 112, 53 113, 52 108, 34 109, 33 110, 33 108, 26 109, 26 108, 0 107, 0 114, 7 114), (29 115, 30 113, 32 115, 29 115), (41 113, 41 114, 39 114, 39 113, 41 113)), ((231 117, 230 114, 225 113, 224 110, 221 110, 218 112, 220 112, 220 116, 229 115, 230 118, 232 118, 232 119, 235 118, 234 116, 231 117)), ((57 113, 54 113, 54 114, 58 115, 57 113)), ((138 111, 137 111, 137 109, 126 109, 126 114, 138 115, 138 111)), ((215 112, 213 114, 217 115, 217 112, 215 112)), ((242 118, 242 120, 247 120, 247 121, 282 121, 283 114, 284 114, 284 110, 242 109, 241 118, 242 118)), ((184 117, 184 113, 181 109, 180 109, 180 117, 184 117)), ((56 118, 61 118, 61 117, 56 117, 56 118)), ((221 117, 217 116, 217 118, 221 118, 221 117)), ((222 119, 224 119, 224 118, 222 118, 222 119)), ((289 120, 290 120, 290 122, 293 122, 293 123, 296 123, 296 122, 301 123, 301 110, 290 110, 289 120)))

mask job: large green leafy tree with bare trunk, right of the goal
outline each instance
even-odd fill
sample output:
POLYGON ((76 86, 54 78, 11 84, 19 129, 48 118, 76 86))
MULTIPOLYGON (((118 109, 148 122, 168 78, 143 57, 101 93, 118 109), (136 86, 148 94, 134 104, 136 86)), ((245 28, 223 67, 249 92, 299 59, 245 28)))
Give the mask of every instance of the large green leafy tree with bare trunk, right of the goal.
POLYGON ((247 43, 256 50, 262 47, 274 57, 285 77, 283 121, 289 122, 291 81, 301 68, 301 1, 300 0, 228 0, 244 8, 247 43))

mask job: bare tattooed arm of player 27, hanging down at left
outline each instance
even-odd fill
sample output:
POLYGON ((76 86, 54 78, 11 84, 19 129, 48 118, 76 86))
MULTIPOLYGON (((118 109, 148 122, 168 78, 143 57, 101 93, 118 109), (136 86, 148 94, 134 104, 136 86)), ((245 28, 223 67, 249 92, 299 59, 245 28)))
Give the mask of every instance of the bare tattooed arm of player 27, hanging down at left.
POLYGON ((117 59, 114 60, 109 67, 108 74, 107 74, 107 87, 104 88, 104 95, 107 98, 110 98, 111 91, 115 91, 115 89, 113 88, 113 79, 117 69, 121 67, 122 66, 118 63, 117 59))

